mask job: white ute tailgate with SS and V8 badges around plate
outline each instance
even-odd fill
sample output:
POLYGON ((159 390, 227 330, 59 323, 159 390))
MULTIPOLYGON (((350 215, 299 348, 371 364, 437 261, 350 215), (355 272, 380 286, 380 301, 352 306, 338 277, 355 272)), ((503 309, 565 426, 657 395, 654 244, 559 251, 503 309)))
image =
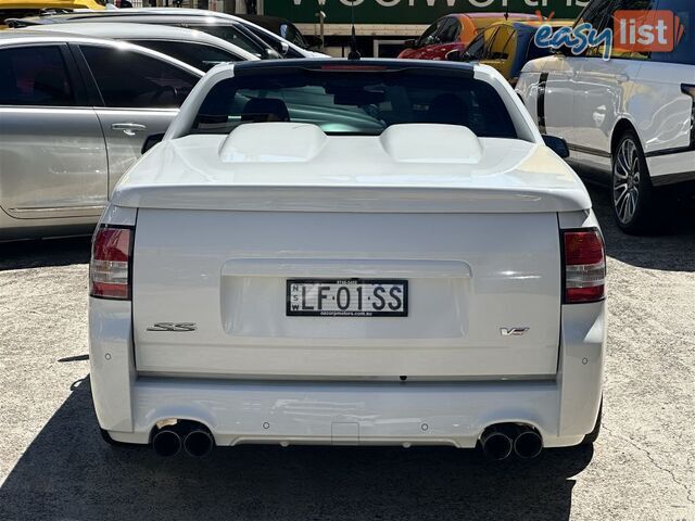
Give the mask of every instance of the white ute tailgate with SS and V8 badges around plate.
POLYGON ((476 379, 557 370, 554 213, 146 208, 138 212, 132 287, 140 372, 476 379), (407 310, 296 316, 287 304, 288 280, 354 279, 368 291, 375 279, 407 282, 407 310), (503 334, 515 328, 528 331, 503 334))

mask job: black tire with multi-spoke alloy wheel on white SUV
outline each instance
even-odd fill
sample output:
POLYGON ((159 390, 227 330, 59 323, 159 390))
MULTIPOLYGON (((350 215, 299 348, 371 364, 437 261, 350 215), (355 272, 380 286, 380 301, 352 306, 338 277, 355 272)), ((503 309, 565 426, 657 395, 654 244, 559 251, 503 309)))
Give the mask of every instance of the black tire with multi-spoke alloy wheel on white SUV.
POLYGON ((630 234, 655 229, 658 219, 656 196, 642 143, 633 130, 624 131, 612 151, 610 191, 618 228, 630 234))

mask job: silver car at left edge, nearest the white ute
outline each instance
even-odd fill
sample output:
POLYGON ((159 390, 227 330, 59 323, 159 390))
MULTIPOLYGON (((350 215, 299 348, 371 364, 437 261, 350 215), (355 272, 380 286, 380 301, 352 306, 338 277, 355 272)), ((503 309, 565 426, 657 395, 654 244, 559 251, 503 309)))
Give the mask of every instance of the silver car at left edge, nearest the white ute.
POLYGON ((0 241, 89 232, 203 72, 124 41, 0 31, 0 241))

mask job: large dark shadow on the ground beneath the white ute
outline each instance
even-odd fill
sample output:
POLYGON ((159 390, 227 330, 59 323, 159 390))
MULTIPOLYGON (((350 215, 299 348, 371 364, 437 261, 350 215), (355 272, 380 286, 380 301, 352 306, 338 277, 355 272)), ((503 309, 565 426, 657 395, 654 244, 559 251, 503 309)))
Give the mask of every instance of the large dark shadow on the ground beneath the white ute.
POLYGON ((589 447, 495 463, 446 447, 217 448, 162 459, 106 445, 76 382, 0 488, 1 519, 553 520, 589 447))

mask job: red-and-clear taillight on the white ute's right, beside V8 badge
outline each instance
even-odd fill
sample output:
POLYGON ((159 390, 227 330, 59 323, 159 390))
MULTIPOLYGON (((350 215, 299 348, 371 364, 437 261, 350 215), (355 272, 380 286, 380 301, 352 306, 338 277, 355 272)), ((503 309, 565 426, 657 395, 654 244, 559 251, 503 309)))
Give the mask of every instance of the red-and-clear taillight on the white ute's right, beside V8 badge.
POLYGON ((606 295, 606 253, 596 229, 563 232, 565 303, 598 302, 606 295))

